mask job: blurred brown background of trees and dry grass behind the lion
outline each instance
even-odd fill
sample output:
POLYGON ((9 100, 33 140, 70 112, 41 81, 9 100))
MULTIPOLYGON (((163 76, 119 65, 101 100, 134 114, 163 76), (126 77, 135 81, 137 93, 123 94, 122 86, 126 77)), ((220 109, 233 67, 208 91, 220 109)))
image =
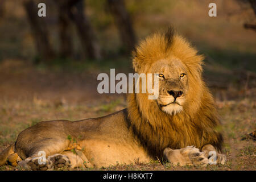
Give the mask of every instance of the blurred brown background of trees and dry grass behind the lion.
POLYGON ((234 160, 243 151, 226 168, 255 169, 255 143, 237 142, 256 128, 254 0, 0 0, 0 150, 39 121, 125 108, 125 95, 97 93, 98 73, 132 73, 133 48, 170 25, 205 55, 226 154, 234 160), (41 2, 46 17, 38 16, 41 2))

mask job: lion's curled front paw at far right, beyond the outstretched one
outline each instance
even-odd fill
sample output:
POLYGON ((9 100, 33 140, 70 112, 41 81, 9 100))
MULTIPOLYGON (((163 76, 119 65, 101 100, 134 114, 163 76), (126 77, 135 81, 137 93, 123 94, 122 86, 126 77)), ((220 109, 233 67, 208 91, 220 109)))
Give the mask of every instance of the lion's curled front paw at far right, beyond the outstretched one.
POLYGON ((203 146, 201 151, 204 152, 205 156, 207 156, 207 158, 210 160, 210 164, 225 164, 226 162, 226 156, 218 153, 211 144, 206 144, 203 146))

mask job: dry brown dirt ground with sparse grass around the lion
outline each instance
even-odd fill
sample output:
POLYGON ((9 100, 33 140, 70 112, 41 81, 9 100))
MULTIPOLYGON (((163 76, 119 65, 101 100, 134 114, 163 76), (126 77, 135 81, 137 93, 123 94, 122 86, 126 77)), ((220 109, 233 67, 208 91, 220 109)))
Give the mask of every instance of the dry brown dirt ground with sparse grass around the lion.
MULTIPOLYGON (((204 77, 222 118, 224 153, 228 159, 225 165, 174 167, 156 160, 147 164, 117 164, 101 170, 255 170, 255 140, 242 140, 256 128, 255 75, 253 72, 220 72, 221 69, 216 73, 214 68, 214 65, 205 65, 204 77)), ((19 60, 2 61, 0 151, 14 142, 20 131, 37 122, 101 117, 125 108, 125 95, 97 93, 97 74, 89 69, 77 72, 36 67, 19 60)), ((8 165, 0 169, 23 170, 8 165)))

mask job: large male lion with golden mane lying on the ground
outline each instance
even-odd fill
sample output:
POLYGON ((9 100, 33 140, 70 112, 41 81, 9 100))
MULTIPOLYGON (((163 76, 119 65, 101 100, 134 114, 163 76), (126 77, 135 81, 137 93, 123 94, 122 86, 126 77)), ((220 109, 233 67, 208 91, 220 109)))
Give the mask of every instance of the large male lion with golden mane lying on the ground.
POLYGON ((213 153, 225 163, 220 119, 201 76, 203 59, 172 28, 148 36, 133 52, 133 68, 158 74, 158 98, 129 93, 127 108, 105 117, 39 122, 2 151, 0 166, 100 168, 156 159, 205 166, 213 153))

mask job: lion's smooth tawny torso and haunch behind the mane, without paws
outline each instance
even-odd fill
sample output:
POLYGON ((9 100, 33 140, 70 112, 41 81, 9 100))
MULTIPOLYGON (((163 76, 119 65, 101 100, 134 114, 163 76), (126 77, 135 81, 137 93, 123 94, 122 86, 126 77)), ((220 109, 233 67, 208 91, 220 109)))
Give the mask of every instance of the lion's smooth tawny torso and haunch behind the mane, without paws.
POLYGON ((47 156, 61 154, 75 139, 95 167, 108 167, 117 162, 129 164, 138 158, 140 162, 149 162, 146 150, 135 139, 126 118, 125 109, 102 118, 40 122, 19 134, 15 152, 23 160, 36 156, 39 151, 45 151, 47 156))

